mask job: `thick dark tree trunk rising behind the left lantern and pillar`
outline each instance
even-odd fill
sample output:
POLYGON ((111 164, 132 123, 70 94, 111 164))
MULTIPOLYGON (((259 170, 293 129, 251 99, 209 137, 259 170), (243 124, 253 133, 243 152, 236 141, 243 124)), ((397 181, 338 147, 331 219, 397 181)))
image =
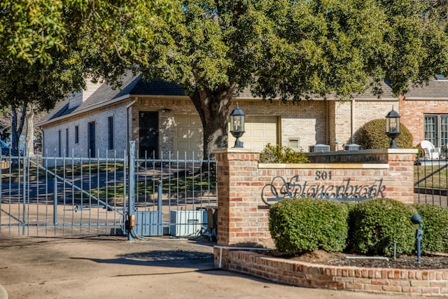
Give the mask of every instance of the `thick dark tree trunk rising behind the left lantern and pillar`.
POLYGON ((235 84, 221 85, 216 90, 195 90, 190 99, 202 121, 203 156, 213 156, 216 148, 228 147, 228 118, 235 84))

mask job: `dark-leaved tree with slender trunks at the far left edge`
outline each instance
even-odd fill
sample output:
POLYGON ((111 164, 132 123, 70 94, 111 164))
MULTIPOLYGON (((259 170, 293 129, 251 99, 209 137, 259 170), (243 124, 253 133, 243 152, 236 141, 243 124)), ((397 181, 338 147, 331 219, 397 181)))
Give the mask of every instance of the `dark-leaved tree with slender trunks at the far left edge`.
MULTIPOLYGON (((60 55, 59 55, 60 56, 60 55)), ((0 60, 0 106, 10 112, 10 134, 13 154, 18 154, 20 135, 24 127, 27 132, 26 152, 33 153, 34 114, 52 109, 73 88, 83 85, 82 74, 76 67, 62 63, 53 55, 52 63, 28 64, 22 60, 0 60)))

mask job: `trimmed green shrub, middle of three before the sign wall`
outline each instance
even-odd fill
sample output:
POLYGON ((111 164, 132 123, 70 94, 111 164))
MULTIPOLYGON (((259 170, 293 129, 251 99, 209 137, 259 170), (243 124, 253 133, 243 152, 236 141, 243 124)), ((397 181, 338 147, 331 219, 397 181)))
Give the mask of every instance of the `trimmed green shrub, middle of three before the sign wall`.
POLYGON ((354 253, 393 256, 411 254, 415 249, 415 228, 410 219, 412 205, 389 199, 359 202, 349 217, 349 242, 354 253))

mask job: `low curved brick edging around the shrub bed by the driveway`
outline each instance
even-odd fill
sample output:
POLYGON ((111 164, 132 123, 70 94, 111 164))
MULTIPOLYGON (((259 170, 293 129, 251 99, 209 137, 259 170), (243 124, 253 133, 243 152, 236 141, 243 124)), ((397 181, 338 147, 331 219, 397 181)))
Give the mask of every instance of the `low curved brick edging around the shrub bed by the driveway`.
POLYGON ((221 258, 226 270, 293 286, 448 297, 448 269, 343 267, 272 258, 250 251, 225 250, 222 257, 217 249, 214 253, 215 265, 221 258))

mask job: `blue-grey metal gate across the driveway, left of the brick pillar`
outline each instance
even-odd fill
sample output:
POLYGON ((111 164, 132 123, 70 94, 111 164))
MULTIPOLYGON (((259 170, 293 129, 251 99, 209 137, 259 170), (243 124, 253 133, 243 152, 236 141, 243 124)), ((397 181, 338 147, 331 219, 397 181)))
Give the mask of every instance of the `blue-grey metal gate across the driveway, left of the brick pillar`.
POLYGON ((217 206, 216 161, 164 152, 165 159, 106 156, 113 158, 2 156, 0 234, 134 238, 207 230, 217 206))

